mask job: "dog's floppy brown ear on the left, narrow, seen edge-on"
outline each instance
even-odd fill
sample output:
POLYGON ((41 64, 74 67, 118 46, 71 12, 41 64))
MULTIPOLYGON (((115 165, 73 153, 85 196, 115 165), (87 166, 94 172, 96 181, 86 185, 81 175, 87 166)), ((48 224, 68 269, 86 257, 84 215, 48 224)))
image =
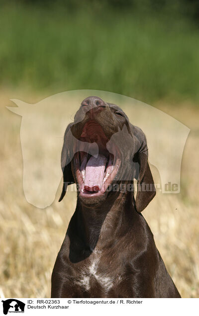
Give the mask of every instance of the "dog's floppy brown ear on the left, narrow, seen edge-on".
POLYGON ((63 187, 62 187, 62 193, 59 198, 59 202, 64 198, 67 190, 67 186, 69 184, 75 183, 73 172, 71 168, 71 158, 70 158, 70 151, 69 151, 69 140, 67 139, 67 133, 73 123, 69 124, 66 128, 65 134, 64 134, 64 144, 62 147, 62 156, 61 156, 61 167, 63 172, 63 187))

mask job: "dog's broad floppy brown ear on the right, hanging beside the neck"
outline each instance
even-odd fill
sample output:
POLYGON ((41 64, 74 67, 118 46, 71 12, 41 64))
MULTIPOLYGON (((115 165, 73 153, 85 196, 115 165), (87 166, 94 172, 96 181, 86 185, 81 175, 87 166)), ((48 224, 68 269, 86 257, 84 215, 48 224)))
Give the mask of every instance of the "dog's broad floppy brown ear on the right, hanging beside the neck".
POLYGON ((156 189, 148 163, 146 137, 142 130, 135 126, 133 127, 133 133, 138 141, 137 146, 141 144, 137 153, 134 155, 133 161, 137 162, 139 166, 139 170, 137 170, 135 176, 137 179, 135 208, 137 212, 142 212, 156 195, 156 189))

